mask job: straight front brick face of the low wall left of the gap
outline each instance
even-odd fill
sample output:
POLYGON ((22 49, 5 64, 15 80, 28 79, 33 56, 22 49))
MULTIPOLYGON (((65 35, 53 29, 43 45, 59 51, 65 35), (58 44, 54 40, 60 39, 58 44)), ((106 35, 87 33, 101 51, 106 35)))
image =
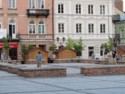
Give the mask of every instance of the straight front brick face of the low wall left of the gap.
POLYGON ((66 69, 18 69, 18 75, 23 77, 60 77, 66 76, 66 69))

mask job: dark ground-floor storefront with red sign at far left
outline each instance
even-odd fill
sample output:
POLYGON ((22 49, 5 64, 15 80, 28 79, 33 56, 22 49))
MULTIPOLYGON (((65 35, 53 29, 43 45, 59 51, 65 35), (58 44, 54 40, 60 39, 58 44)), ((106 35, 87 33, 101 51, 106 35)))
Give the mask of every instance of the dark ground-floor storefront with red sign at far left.
MULTIPOLYGON (((0 42, 0 57, 2 53, 3 43, 0 42)), ((10 42, 9 43, 9 56, 11 60, 17 60, 17 49, 18 49, 18 42, 10 42)))

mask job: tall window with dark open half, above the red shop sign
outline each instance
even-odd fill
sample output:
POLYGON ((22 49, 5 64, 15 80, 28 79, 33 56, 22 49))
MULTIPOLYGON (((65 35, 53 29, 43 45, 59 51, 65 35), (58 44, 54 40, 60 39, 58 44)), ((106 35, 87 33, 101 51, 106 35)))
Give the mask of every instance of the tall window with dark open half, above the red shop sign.
POLYGON ((11 20, 9 22, 9 37, 10 38, 16 37, 15 32, 16 32, 16 24, 15 24, 14 20, 11 20))

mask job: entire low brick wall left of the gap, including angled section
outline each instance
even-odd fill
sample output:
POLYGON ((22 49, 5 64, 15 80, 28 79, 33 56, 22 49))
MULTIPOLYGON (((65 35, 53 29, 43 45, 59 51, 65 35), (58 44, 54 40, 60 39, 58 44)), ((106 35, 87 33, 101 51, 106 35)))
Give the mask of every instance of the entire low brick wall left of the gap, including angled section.
POLYGON ((59 77, 66 76, 66 68, 27 68, 14 64, 0 64, 0 70, 23 77, 59 77))

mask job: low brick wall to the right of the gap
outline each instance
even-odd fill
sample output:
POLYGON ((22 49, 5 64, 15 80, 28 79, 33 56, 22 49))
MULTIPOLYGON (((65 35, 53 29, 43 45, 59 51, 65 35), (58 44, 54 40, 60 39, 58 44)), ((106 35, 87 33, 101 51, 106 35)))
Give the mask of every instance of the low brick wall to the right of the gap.
POLYGON ((92 75, 121 75, 125 74, 125 65, 103 65, 81 68, 81 74, 92 75))

